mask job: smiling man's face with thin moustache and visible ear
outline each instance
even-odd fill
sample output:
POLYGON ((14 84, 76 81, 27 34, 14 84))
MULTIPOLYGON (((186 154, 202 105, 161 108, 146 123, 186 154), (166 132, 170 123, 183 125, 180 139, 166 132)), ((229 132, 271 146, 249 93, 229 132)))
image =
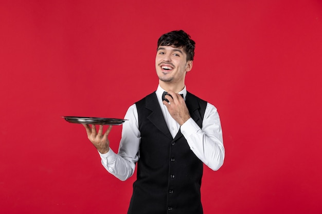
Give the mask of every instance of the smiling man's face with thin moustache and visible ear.
POLYGON ((155 56, 155 69, 160 81, 184 84, 186 72, 192 68, 183 48, 159 46, 155 56))

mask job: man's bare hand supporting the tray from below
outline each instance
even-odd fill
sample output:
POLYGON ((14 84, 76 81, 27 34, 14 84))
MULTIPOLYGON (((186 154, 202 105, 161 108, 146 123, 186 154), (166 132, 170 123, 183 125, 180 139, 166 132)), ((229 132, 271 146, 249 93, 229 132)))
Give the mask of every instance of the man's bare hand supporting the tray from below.
POLYGON ((91 127, 88 124, 83 124, 83 126, 86 129, 88 140, 92 142, 92 144, 100 153, 107 153, 110 150, 110 141, 108 139, 108 136, 112 129, 112 126, 110 125, 108 130, 106 130, 104 134, 102 125, 99 125, 98 132, 96 131, 95 125, 91 125, 91 127))

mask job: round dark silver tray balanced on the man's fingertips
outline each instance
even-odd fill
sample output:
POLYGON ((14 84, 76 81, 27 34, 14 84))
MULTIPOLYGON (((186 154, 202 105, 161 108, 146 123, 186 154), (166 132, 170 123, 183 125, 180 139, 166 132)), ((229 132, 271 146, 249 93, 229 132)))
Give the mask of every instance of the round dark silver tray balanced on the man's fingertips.
POLYGON ((95 124, 95 125, 122 125, 126 119, 115 118, 91 118, 86 116, 62 116, 69 123, 95 124))

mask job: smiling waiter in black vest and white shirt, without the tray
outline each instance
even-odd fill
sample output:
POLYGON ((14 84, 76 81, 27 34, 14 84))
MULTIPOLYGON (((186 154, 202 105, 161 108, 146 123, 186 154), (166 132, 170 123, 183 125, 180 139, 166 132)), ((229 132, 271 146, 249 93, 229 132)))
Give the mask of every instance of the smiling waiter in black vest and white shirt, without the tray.
POLYGON ((84 125, 103 166, 118 179, 131 177, 137 163, 129 214, 203 213, 203 163, 213 170, 223 164, 217 109, 185 86, 194 47, 182 30, 159 38, 155 57, 159 85, 128 109, 118 154, 109 147, 112 126, 103 133, 102 126, 97 132, 94 125, 84 125))

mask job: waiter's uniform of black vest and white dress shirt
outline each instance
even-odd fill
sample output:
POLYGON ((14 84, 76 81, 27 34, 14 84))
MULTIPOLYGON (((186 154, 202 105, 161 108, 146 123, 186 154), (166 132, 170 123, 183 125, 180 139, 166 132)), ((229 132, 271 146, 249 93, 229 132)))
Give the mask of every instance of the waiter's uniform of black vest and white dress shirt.
POLYGON ((203 164, 218 170, 224 161, 219 114, 185 87, 179 93, 191 118, 180 126, 162 103, 163 91, 158 86, 130 106, 118 153, 99 153, 101 162, 121 181, 137 166, 128 214, 201 214, 203 164))

